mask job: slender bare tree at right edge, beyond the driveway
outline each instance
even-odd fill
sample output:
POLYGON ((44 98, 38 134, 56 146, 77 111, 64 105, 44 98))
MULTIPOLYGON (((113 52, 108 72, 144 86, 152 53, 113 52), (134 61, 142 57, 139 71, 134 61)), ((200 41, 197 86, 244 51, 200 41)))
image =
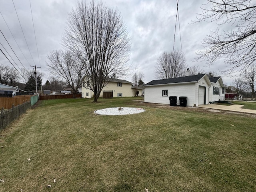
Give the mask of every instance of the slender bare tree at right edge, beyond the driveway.
POLYGON ((246 83, 250 87, 250 90, 252 91, 252 100, 254 98, 254 85, 256 83, 256 65, 252 64, 248 68, 245 68, 243 70, 242 76, 244 77, 246 83))

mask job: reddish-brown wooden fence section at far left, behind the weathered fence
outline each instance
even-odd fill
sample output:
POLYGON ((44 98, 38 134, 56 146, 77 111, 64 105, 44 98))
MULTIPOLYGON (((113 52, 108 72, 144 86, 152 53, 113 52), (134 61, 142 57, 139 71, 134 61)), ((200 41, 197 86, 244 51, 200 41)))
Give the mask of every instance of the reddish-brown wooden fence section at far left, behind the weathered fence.
POLYGON ((17 106, 24 102, 30 101, 31 95, 20 95, 14 97, 1 97, 0 98, 0 109, 10 109, 12 105, 17 106))

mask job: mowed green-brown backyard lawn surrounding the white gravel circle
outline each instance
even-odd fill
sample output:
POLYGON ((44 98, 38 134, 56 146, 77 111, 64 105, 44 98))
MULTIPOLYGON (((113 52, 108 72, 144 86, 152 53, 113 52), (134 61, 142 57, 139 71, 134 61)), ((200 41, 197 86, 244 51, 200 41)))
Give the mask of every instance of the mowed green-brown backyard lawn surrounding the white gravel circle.
POLYGON ((92 101, 44 100, 0 132, 0 192, 256 191, 256 116, 92 101))

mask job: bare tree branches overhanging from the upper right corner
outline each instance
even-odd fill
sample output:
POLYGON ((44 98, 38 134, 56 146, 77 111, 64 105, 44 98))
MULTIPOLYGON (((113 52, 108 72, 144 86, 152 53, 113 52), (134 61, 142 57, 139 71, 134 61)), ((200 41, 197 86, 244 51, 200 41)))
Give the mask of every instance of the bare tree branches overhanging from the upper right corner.
POLYGON ((228 64, 226 74, 246 68, 256 60, 256 2, 254 0, 207 0, 197 21, 236 25, 236 29, 212 31, 202 42, 206 48, 198 58, 209 65, 219 58, 228 64))

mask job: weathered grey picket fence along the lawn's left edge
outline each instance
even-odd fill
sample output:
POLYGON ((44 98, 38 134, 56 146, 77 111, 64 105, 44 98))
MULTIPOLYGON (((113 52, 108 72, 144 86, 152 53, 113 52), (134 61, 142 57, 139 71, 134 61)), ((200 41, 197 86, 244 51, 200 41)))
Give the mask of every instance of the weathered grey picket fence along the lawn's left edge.
POLYGON ((18 118, 21 114, 25 113, 26 110, 30 107, 31 107, 31 102, 28 101, 18 106, 13 106, 8 110, 2 108, 0 111, 0 130, 3 130, 12 121, 18 118))

